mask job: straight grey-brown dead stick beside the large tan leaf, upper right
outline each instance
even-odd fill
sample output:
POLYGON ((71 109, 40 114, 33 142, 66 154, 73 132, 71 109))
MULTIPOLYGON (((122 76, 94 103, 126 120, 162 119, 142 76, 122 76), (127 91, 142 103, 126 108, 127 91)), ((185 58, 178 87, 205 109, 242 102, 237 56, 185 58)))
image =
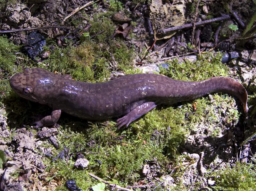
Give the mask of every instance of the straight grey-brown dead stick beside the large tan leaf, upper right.
MULTIPOLYGON (((196 22, 195 26, 205 25, 205 24, 209 24, 209 23, 212 23, 212 22, 226 20, 226 19, 229 19, 229 18, 230 18, 229 15, 223 15, 222 17, 217 17, 217 18, 212 18, 212 19, 209 19, 209 20, 196 22)), ((173 26, 173 27, 165 28, 161 32, 163 34, 165 34, 165 33, 168 33, 168 32, 178 31, 178 30, 181 30, 181 29, 188 29, 188 28, 191 28, 191 27, 193 27, 193 24, 185 24, 185 25, 182 25, 182 26, 173 26)))

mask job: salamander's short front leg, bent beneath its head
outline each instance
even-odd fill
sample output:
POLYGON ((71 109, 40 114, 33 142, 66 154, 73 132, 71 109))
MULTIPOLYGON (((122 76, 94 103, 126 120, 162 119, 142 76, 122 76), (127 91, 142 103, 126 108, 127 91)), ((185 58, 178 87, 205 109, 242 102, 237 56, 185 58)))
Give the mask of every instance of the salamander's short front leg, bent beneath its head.
POLYGON ((54 110, 52 111, 51 115, 47 115, 40 121, 35 122, 35 128, 38 129, 39 127, 43 127, 44 125, 53 125, 59 120, 60 116, 61 110, 54 110))

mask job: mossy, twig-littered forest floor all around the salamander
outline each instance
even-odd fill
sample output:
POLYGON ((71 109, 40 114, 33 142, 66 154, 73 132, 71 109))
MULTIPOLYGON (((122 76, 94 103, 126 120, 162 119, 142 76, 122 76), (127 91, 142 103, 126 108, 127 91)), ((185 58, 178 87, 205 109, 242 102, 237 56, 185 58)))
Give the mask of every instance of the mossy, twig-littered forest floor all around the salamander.
POLYGON ((0 8, 1 189, 256 187, 252 1, 3 1, 0 8), (121 131, 114 120, 65 114, 35 130, 50 108, 18 98, 8 83, 26 67, 86 82, 140 72, 229 76, 246 87, 249 112, 245 118, 233 97, 212 94, 156 108, 121 131))

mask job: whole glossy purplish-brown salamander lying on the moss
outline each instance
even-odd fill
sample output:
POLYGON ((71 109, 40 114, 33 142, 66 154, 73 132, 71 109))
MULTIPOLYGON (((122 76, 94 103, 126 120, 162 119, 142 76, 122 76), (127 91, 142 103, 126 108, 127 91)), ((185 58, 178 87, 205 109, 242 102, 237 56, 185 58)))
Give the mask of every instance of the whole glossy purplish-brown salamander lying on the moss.
POLYGON ((212 77, 200 82, 185 82, 156 74, 134 74, 103 83, 72 80, 41 68, 26 68, 11 77, 12 89, 22 98, 53 108, 51 115, 36 122, 36 128, 56 123, 61 112, 87 119, 119 117, 118 128, 146 114, 160 104, 192 100, 212 92, 230 93, 240 99, 244 112, 247 92, 229 77, 212 77))

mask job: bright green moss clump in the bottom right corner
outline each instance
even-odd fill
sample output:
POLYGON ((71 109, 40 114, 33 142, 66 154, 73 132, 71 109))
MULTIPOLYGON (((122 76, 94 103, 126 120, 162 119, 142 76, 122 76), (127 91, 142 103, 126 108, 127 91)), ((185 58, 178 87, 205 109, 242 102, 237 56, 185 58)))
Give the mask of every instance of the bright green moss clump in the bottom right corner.
POLYGON ((214 190, 255 190, 256 168, 252 164, 236 163, 234 167, 225 167, 211 174, 216 181, 214 190))

